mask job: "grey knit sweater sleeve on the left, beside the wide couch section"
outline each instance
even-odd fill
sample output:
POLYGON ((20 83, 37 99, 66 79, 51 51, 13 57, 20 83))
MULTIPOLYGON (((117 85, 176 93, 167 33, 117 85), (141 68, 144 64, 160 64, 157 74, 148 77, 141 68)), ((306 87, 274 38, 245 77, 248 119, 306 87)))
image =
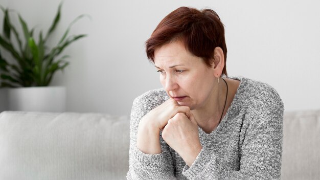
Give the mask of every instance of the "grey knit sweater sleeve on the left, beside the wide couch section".
MULTIPOLYGON (((145 154, 136 147, 139 121, 152 109, 145 98, 136 98, 132 105, 130 120, 129 171, 127 179, 175 179, 169 146, 161 137, 162 153, 145 154)), ((153 99, 154 102, 154 99, 153 99)))

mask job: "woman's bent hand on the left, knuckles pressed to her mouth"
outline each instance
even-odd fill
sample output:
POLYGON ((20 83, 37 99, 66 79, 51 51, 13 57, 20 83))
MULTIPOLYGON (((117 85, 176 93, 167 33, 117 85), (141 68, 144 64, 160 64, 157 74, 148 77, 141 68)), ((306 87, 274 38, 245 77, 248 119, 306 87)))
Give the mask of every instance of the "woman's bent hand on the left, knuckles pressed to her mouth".
POLYGON ((152 109, 139 123, 136 137, 136 147, 147 154, 158 154, 162 152, 159 141, 160 130, 163 129, 169 119, 177 113, 190 116, 188 106, 180 106, 174 99, 168 99, 163 104, 152 109))

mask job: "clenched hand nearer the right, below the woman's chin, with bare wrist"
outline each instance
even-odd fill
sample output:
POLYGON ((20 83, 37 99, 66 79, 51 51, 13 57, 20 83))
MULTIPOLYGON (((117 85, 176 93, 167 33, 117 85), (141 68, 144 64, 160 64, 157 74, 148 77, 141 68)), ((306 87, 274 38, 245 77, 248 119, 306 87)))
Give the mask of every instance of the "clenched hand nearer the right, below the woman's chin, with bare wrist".
POLYGON ((177 113, 171 118, 162 131, 162 138, 189 167, 202 149, 198 125, 191 113, 189 118, 184 113, 177 113))

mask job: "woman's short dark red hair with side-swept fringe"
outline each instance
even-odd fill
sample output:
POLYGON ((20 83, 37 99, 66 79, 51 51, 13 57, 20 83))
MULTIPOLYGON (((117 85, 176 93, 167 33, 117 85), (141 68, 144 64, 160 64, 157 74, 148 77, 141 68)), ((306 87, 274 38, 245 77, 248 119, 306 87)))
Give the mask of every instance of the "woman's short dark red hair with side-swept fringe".
POLYGON ((193 55, 203 58, 209 68, 212 66, 214 49, 220 47, 224 54, 222 74, 227 75, 224 27, 215 11, 211 9, 199 11, 188 7, 172 11, 162 19, 146 41, 148 59, 154 63, 155 49, 174 40, 181 40, 186 49, 193 55))

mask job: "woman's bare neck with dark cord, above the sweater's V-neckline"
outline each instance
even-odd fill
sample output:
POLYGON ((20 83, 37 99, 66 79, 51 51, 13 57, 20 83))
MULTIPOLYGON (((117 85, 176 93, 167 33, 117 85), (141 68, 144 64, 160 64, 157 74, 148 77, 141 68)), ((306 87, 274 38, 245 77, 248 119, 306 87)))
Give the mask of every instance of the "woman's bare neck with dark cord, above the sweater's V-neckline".
POLYGON ((226 111, 226 108, 224 109, 226 89, 225 82, 221 80, 208 99, 208 103, 202 108, 191 110, 198 126, 207 133, 212 132, 219 125, 224 111, 226 111))

